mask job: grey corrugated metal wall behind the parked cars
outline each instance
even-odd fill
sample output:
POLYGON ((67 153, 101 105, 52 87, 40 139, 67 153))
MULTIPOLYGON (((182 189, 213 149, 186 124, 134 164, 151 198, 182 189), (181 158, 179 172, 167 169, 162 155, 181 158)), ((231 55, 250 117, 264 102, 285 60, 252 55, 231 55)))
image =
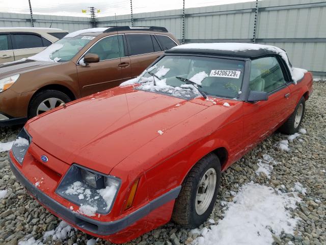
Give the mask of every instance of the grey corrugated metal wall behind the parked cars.
MULTIPOLYGON (((187 0, 185 0, 187 1, 187 0)), ((256 3, 185 9, 184 39, 189 42, 252 42, 256 3)), ((36 27, 75 31, 90 28, 87 17, 33 15, 36 27)), ((98 26, 129 26, 130 15, 98 18, 98 26), (117 20, 116 20, 117 18, 117 20)), ((166 27, 182 39, 182 10, 133 14, 134 26, 166 27)), ((30 15, 0 13, 0 26, 31 26, 30 15)), ((326 76, 326 1, 259 1, 256 42, 284 48, 294 66, 326 76)))

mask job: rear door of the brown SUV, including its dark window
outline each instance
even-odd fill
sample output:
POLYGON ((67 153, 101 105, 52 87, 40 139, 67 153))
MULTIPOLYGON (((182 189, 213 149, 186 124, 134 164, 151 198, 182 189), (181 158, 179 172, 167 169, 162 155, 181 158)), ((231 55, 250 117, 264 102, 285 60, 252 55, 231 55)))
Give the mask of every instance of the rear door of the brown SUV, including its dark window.
POLYGON ((131 62, 131 77, 139 76, 163 53, 152 34, 125 34, 131 62))

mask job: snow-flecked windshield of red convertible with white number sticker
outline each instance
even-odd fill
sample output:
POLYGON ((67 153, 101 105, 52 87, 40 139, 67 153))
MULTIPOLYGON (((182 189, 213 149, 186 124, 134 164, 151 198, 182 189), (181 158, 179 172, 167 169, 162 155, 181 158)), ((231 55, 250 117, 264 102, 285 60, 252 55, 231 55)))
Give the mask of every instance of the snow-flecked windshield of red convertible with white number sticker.
POLYGON ((169 55, 142 73, 137 89, 182 99, 202 94, 238 99, 243 71, 244 61, 241 60, 169 55))

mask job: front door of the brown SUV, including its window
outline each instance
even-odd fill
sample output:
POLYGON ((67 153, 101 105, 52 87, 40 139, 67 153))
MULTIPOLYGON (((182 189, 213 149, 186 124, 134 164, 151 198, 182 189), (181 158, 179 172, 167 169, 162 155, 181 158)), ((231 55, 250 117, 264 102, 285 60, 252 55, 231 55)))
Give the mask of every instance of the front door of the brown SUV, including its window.
POLYGON ((130 79, 130 59, 125 55, 123 35, 112 35, 98 40, 86 54, 97 54, 100 61, 87 66, 77 64, 80 93, 86 96, 119 86, 130 79))

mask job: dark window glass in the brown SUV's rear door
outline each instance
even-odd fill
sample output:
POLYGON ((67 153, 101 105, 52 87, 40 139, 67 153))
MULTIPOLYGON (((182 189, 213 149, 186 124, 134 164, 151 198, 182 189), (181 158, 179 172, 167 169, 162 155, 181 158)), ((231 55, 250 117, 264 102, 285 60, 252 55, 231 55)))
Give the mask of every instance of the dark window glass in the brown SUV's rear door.
POLYGON ((150 34, 126 34, 130 55, 143 55, 154 52, 150 34))

